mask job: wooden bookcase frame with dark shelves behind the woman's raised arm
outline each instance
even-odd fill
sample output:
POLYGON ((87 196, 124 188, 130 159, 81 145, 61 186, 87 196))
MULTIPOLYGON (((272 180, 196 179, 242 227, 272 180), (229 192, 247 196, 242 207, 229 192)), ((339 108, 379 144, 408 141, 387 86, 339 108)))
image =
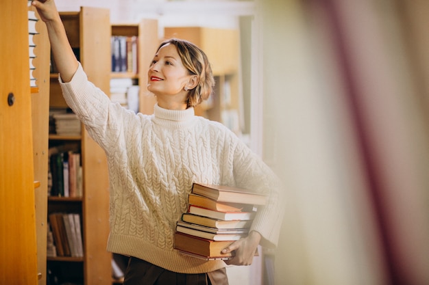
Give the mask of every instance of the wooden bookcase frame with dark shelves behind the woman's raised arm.
MULTIPOLYGON (((79 12, 61 12, 69 42, 88 79, 109 94, 110 79, 110 11, 82 7, 79 12)), ((51 74, 50 107, 67 108, 58 83, 51 74)), ((60 282, 108 284, 111 282, 111 254, 108 239, 109 191, 106 155, 82 132, 76 136, 49 135, 49 146, 75 146, 81 154, 82 197, 49 197, 51 213, 78 213, 82 226, 84 256, 48 257, 47 267, 60 282)))

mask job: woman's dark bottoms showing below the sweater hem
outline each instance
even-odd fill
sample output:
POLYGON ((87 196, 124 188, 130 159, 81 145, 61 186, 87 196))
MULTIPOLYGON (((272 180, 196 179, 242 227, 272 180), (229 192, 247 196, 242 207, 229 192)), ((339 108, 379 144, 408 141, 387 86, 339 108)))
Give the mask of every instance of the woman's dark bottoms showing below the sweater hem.
POLYGON ((123 285, 228 285, 226 269, 199 274, 176 273, 130 257, 123 285))

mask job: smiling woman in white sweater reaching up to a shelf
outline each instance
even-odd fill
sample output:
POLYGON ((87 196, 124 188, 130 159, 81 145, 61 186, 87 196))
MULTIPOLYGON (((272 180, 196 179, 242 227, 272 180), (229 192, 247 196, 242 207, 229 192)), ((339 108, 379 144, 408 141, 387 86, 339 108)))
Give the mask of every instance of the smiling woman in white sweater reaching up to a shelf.
POLYGON ((66 103, 106 151, 110 178, 108 251, 130 256, 125 285, 228 284, 226 264, 252 264, 258 244, 275 247, 282 220, 280 182, 228 128, 195 116, 215 83, 206 55, 191 42, 160 44, 147 88, 158 103, 145 116, 110 102, 90 83, 66 38, 53 0, 33 1, 47 25, 66 103), (247 237, 200 260, 173 249, 175 223, 187 209, 193 182, 232 185, 269 194, 247 237))

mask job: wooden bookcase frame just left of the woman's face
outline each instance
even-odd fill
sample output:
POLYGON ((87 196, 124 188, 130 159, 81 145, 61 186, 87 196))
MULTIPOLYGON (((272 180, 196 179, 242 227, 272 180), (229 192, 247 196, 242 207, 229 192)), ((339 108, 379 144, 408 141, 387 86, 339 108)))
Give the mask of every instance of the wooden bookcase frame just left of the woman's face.
MULTIPOLYGON (((147 92, 147 71, 158 48, 158 21, 142 19, 136 24, 113 24, 112 36, 137 38, 136 72, 112 72, 112 78, 131 78, 137 81, 139 90, 139 112, 154 113, 156 98, 147 92)), ((112 51, 113 52, 113 51, 112 51)))

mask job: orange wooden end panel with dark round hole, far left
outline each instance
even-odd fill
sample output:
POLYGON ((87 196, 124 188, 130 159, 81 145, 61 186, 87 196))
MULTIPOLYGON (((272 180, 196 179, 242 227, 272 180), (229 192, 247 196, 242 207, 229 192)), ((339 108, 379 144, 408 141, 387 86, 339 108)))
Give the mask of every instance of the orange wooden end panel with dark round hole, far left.
POLYGON ((27 21, 24 1, 2 3, 0 284, 37 284, 27 21), (9 94, 13 105, 8 104, 9 94))

